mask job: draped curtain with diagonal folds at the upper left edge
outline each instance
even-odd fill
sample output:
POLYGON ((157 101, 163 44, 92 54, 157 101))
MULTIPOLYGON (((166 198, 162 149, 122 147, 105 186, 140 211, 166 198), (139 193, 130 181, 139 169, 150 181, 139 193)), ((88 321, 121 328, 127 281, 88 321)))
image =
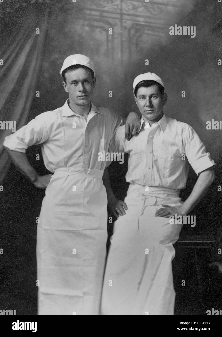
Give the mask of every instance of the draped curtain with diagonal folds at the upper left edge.
MULTIPOLYGON (((35 95, 35 83, 42 62, 49 6, 34 1, 4 1, 0 7, 2 26, 15 27, 8 34, 1 34, 0 67, 0 120, 16 121, 18 130, 27 123, 30 106, 35 95), (29 4, 31 4, 29 6, 29 4), (4 16, 5 14, 5 16, 4 16), (4 22, 6 21, 7 22, 4 22), (15 24, 16 23, 16 24, 15 24), (39 34, 36 33, 39 28, 39 34)), ((11 130, 0 132, 0 177, 3 181, 10 166, 3 148, 4 138, 11 130)))

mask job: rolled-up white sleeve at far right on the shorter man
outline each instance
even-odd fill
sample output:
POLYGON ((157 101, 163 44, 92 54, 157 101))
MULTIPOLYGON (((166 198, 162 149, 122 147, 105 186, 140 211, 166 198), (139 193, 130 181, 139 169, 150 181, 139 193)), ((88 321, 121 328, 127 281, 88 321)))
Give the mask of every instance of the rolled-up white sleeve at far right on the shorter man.
POLYGON ((191 126, 188 125, 183 130, 182 137, 185 155, 197 175, 207 168, 216 165, 214 160, 211 159, 210 153, 206 152, 205 146, 198 134, 191 126))

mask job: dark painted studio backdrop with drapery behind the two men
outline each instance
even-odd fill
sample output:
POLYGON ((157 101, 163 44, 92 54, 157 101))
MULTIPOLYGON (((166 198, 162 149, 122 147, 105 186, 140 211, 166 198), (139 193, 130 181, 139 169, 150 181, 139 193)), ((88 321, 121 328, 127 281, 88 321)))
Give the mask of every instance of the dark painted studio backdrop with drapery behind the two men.
MULTIPOLYGON (((166 116, 191 125, 217 163, 215 182, 192 211, 196 226, 184 225, 175 245, 173 271, 176 315, 222 309, 222 273, 214 264, 220 263, 217 248, 222 248, 222 130, 215 124, 222 120, 222 3, 4 0, 0 17, 0 309, 17 310, 17 315, 37 313, 36 217, 45 193, 11 164, 3 141, 12 130, 4 128, 3 121, 16 121, 19 129, 40 113, 62 106, 67 94, 59 71, 71 54, 85 54, 94 62, 93 103, 123 117, 137 111, 134 78, 143 72, 158 74, 168 94, 166 116), (175 33, 175 25, 195 27, 195 36, 170 35, 170 27, 175 33)), ((40 146, 29 148, 27 155, 39 175, 47 174, 40 146)), ((127 162, 113 163, 109 171, 113 190, 123 200, 128 188, 124 180, 127 162)), ((183 198, 196 179, 190 168, 183 198)), ((108 233, 112 234, 110 223, 108 233)))

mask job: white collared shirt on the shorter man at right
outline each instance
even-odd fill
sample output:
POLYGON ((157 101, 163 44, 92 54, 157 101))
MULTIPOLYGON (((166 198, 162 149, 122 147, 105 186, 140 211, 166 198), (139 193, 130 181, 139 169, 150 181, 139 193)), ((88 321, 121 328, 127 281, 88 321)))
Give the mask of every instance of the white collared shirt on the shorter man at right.
POLYGON ((140 133, 127 141, 120 126, 110 143, 110 152, 129 153, 126 180, 144 186, 172 189, 186 187, 189 164, 198 175, 216 165, 195 130, 165 115, 149 125, 141 118, 140 133))

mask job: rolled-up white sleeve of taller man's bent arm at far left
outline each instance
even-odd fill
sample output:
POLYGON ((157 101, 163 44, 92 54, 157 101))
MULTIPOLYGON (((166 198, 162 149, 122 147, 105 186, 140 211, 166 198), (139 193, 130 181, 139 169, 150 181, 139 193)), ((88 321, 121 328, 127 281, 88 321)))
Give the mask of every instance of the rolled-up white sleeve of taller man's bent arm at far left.
POLYGON ((5 137, 3 145, 10 150, 25 153, 29 146, 44 143, 48 137, 49 131, 43 113, 15 133, 5 137))

